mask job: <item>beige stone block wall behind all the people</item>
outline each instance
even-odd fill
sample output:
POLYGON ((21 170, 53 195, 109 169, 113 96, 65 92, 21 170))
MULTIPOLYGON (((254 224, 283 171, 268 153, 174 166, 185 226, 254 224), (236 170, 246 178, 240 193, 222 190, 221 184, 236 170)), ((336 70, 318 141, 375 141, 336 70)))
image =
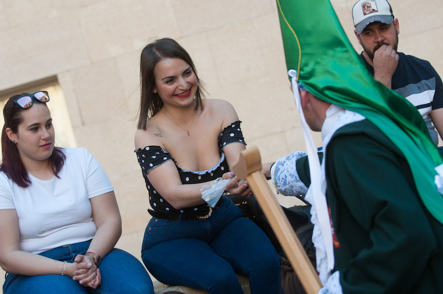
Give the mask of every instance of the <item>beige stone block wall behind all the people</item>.
MULTIPOLYGON (((332 0, 360 52, 353 2, 332 0)), ((443 2, 391 4, 400 20, 399 51, 428 59, 443 74, 438 53, 443 2)), ((260 148, 263 161, 305 149, 274 0, 0 0, 0 96, 35 80, 57 78, 75 144, 88 148, 115 187, 123 217, 117 246, 138 258, 149 220, 133 153, 139 55, 148 42, 165 36, 188 50, 208 98, 236 108, 247 142, 260 148)), ((318 134, 315 140, 321 144, 318 134)))

